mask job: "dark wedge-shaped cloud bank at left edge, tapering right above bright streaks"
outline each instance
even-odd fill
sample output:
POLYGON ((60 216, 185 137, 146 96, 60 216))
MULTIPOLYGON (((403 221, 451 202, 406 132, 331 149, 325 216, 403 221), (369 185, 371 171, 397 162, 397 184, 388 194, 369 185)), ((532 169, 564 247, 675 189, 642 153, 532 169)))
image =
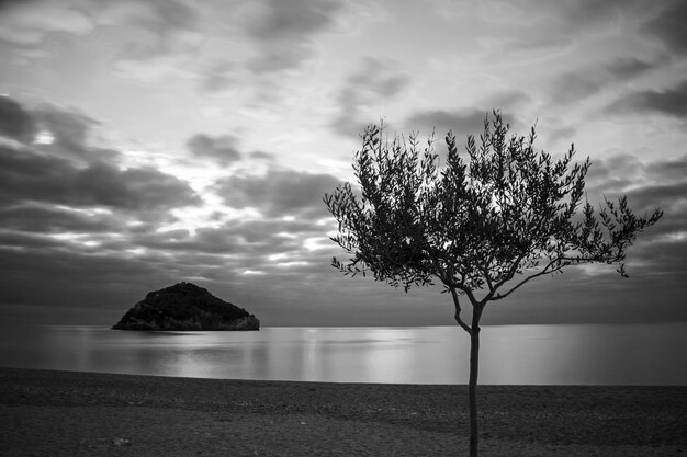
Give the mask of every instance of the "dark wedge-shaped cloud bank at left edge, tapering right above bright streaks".
POLYGON ((35 125, 54 137, 52 144, 35 147, 0 145, 0 202, 131 210, 200 203, 179 179, 151 168, 122 169, 114 163, 119 151, 90 146, 90 128, 97 123, 88 116, 54 106, 32 112, 9 98, 0 102, 9 115, 2 125, 15 137, 29 138, 35 125), (82 160, 72 160, 75 156, 82 160))

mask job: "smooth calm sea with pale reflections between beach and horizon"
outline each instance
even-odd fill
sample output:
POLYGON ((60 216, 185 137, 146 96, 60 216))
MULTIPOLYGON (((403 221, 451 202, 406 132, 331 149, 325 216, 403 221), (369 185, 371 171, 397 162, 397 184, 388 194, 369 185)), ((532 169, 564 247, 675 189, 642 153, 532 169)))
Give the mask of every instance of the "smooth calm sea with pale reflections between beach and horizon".
MULTIPOLYGON (((234 379, 465 384, 455 327, 133 332, 0 325, 0 366, 234 379)), ((481 384, 687 385, 687 323, 482 330, 481 384)))

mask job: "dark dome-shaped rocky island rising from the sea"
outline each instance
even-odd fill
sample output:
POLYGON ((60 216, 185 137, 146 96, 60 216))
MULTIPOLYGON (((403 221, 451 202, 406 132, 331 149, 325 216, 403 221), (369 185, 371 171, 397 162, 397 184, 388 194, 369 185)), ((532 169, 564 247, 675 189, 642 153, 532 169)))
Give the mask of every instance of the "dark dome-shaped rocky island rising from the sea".
POLYGON ((112 329, 259 330, 260 321, 203 287, 179 283, 148 293, 112 329))

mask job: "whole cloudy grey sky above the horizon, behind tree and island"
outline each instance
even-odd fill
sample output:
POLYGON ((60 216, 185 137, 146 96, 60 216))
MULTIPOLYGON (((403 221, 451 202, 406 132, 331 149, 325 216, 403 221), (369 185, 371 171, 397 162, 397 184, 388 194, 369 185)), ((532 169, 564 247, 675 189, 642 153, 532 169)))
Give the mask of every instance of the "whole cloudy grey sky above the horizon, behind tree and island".
MULTIPOLYGON (((113 324, 180 281, 262 325, 451 325, 330 266, 365 125, 459 142, 502 110, 663 219, 484 324, 687 320, 687 2, 0 2, 0 320, 113 324)), ((437 145, 440 148, 440 145, 437 145)))

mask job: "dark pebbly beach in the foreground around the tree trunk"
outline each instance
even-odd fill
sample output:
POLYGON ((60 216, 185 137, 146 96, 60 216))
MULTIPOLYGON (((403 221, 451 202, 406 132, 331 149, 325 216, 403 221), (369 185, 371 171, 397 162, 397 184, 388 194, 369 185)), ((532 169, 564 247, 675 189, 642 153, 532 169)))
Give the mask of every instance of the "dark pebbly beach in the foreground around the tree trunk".
MULTIPOLYGON (((482 456, 687 456, 685 387, 483 386, 482 456)), ((466 455, 465 386, 0 368, 2 456, 466 455)))

